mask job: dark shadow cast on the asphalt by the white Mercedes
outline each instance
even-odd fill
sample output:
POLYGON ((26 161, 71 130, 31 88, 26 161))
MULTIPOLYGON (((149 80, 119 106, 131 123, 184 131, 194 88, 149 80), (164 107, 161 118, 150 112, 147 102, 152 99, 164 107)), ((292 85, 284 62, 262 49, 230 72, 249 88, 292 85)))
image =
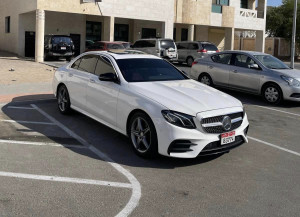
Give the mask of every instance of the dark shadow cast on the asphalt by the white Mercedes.
MULTIPOLYGON (((11 120, 16 121, 18 124, 25 127, 25 129, 15 129, 18 133, 22 132, 38 132, 42 134, 44 137, 50 139, 54 143, 61 144, 65 146, 68 143, 74 143, 74 139, 62 139, 58 136, 53 136, 55 134, 59 134, 62 129, 55 126, 41 126, 38 124, 29 124, 23 121, 38 121, 36 120, 37 116, 41 116, 37 111, 34 110, 21 110, 21 109, 9 109, 8 106, 30 106, 28 102, 20 102, 20 98, 16 97, 12 102, 4 105, 2 107, 2 112, 9 117, 11 120), (32 113, 34 111, 35 113, 32 113), (20 112, 23 113, 22 117, 25 117, 26 120, 20 120, 20 112), (56 128, 56 129, 55 129, 56 128), (49 133, 51 136, 49 136, 49 133)), ((34 98, 34 96, 31 96, 34 98)), ((177 159, 170 158, 164 156, 157 156, 154 159, 144 159, 137 156, 133 148, 131 146, 131 142, 128 137, 112 130, 111 128, 85 116, 76 111, 73 111, 71 115, 62 115, 58 111, 56 100, 43 100, 34 102, 39 108, 41 108, 44 112, 46 112, 51 117, 55 118, 61 124, 72 130, 74 133, 82 137, 89 144, 96 147, 102 153, 105 153, 109 158, 111 158, 114 162, 131 166, 131 167, 149 167, 149 168, 159 168, 159 169, 174 169, 176 167, 187 167, 196 164, 203 164, 209 161, 213 161, 222 156, 222 154, 198 157, 195 159, 177 159)), ((42 117, 42 116, 41 116, 42 117)), ((45 122, 45 118, 42 117, 45 122)), ((47 120, 46 120, 47 121, 47 120)), ((26 138, 24 135, 23 138, 8 138, 8 137, 0 137, 0 139, 12 139, 12 140, 24 140, 30 139, 26 138)), ((84 155, 90 158, 100 159, 91 151, 86 151, 84 149, 79 148, 70 148, 65 146, 69 150, 76 152, 77 154, 84 155)))

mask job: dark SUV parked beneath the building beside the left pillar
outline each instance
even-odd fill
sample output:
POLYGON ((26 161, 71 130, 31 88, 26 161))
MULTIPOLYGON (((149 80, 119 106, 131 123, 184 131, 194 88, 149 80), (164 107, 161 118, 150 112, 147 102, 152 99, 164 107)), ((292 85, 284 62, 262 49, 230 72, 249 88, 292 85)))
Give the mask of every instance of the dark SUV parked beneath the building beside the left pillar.
POLYGON ((44 42, 45 60, 65 57, 70 61, 74 56, 75 46, 70 36, 46 35, 44 42))

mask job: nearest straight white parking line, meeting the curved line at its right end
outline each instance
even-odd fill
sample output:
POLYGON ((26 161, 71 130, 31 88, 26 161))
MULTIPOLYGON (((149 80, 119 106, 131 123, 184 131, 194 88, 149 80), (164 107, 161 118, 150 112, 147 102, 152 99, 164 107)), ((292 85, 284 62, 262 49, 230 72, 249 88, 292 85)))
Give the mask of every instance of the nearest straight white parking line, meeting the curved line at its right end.
POLYGON ((102 186, 110 186, 110 187, 117 187, 117 188, 132 188, 131 184, 128 183, 107 182, 107 181, 100 181, 100 180, 78 179, 78 178, 59 177, 59 176, 43 176, 43 175, 33 175, 33 174, 25 174, 25 173, 10 173, 10 172, 2 172, 2 171, 0 171, 0 176, 22 178, 22 179, 35 179, 35 180, 51 181, 51 182, 68 182, 68 183, 87 184, 87 185, 102 185, 102 186))

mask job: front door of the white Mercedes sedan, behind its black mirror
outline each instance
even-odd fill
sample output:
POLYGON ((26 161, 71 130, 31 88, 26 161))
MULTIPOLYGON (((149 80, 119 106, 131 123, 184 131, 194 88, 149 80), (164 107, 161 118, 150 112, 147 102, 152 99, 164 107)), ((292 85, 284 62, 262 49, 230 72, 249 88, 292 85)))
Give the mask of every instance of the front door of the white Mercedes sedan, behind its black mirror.
POLYGON ((116 73, 111 61, 100 56, 91 76, 87 90, 88 112, 110 126, 116 126, 117 102, 120 85, 114 82, 100 81, 99 75, 116 73))

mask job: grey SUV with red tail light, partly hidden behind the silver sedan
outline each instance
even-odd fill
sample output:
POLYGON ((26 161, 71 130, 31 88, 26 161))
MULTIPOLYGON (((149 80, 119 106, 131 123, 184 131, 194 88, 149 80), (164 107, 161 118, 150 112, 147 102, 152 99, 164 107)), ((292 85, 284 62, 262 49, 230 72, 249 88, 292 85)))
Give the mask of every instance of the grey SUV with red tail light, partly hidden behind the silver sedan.
POLYGON ((210 54, 219 52, 218 48, 210 42, 180 41, 176 42, 178 51, 178 62, 187 63, 192 66, 195 59, 204 58, 210 54))

